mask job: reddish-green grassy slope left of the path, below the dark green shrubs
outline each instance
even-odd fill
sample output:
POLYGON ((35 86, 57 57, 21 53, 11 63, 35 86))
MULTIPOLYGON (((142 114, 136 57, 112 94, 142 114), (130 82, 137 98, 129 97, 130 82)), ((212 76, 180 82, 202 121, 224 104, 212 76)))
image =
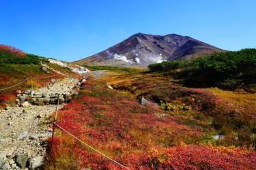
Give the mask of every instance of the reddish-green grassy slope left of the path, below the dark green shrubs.
MULTIPOLYGON (((62 73, 66 73, 70 76, 76 76, 77 73, 70 71, 70 69, 60 67, 59 65, 55 65, 52 63, 46 63, 50 67, 61 71, 62 73)), ((0 66, 0 87, 8 88, 14 84, 18 84, 19 82, 25 80, 28 77, 33 78, 43 78, 51 75, 56 75, 54 71, 48 69, 48 73, 42 71, 41 65, 3 65, 0 66)), ((56 75, 52 78, 63 78, 62 75, 56 75)), ((8 90, 0 91, 0 108, 5 107, 6 105, 13 105, 14 99, 16 99, 14 92, 18 89, 27 90, 31 88, 38 88, 40 86, 44 86, 47 82, 51 82, 52 78, 40 79, 40 80, 27 80, 27 82, 23 82, 22 84, 10 88, 8 90)))

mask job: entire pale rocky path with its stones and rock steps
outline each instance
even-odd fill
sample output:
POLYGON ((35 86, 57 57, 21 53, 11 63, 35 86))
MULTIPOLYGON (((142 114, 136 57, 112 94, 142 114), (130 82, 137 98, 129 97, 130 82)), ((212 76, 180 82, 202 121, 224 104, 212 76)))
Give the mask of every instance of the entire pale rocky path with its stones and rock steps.
MULTIPOLYGON (((75 84, 77 82, 75 80, 75 84)), ((49 117, 56 108, 51 102, 44 103, 44 99, 53 99, 56 103, 57 97, 62 97, 64 102, 64 97, 76 94, 73 87, 74 79, 65 78, 47 87, 18 94, 19 106, 0 110, 0 169, 33 169, 42 164, 46 139, 52 135, 49 117), (44 105, 32 105, 31 99, 42 99, 44 105)), ((63 104, 59 109, 61 107, 63 104)))

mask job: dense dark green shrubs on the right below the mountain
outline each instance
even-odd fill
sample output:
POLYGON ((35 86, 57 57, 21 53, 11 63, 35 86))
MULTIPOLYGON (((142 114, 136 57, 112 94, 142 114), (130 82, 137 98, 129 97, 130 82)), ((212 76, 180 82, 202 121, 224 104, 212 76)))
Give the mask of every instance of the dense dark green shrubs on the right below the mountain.
POLYGON ((256 92, 256 49, 214 52, 192 61, 166 61, 149 66, 150 71, 165 72, 184 80, 186 86, 243 88, 256 92))

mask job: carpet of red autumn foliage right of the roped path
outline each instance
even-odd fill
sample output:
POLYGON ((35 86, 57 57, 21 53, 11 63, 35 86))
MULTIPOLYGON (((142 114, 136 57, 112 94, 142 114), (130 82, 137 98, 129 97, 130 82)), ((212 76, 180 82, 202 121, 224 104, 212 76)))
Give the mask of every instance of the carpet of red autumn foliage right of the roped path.
MULTIPOLYGON (((99 82, 88 81, 85 86, 93 88, 81 90, 80 96, 59 112, 58 124, 130 169, 256 168, 255 153, 191 145, 203 137, 206 125, 200 120, 143 107, 99 82), (180 146, 179 141, 190 145, 180 146)), ((208 97, 201 91, 188 93, 199 93, 195 96, 199 103, 208 97)), ((71 147, 60 145, 57 150, 78 154, 81 168, 122 169, 78 141, 71 147)))

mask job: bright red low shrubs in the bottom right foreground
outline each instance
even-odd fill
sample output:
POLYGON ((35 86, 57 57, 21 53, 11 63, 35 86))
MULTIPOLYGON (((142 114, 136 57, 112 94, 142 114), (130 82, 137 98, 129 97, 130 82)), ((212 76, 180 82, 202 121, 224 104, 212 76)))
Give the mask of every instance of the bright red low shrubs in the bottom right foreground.
POLYGON ((150 169, 256 169, 256 153, 238 148, 179 146, 153 149, 140 159, 150 169))

